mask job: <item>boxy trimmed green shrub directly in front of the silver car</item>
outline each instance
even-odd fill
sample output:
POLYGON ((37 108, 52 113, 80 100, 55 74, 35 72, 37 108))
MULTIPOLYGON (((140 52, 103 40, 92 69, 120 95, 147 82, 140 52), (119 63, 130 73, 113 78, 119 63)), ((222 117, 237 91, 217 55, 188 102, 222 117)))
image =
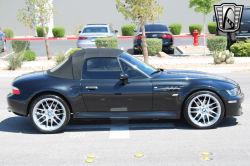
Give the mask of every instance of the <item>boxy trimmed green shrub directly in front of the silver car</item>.
POLYGON ((96 38, 95 45, 97 48, 113 48, 117 49, 118 39, 117 38, 96 38))

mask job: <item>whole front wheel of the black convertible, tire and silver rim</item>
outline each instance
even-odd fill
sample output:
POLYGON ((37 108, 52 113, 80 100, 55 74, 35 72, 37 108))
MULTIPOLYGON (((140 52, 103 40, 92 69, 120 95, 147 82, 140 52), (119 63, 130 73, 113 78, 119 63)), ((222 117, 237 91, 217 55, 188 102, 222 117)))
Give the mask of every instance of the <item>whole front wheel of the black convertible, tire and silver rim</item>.
POLYGON ((185 102, 184 117, 193 127, 209 129, 216 127, 224 116, 223 102, 213 92, 199 91, 185 102))

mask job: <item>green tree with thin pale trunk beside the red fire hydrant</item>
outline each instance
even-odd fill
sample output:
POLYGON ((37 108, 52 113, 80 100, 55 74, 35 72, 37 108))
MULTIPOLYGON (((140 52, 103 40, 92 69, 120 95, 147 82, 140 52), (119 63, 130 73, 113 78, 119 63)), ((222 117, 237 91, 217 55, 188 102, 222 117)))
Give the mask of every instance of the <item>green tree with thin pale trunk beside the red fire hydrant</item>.
POLYGON ((203 23, 203 38, 204 38, 204 56, 206 56, 206 15, 214 10, 213 4, 216 2, 220 2, 221 0, 190 0, 189 1, 189 8, 195 7, 194 11, 196 13, 203 13, 204 15, 204 23, 203 23))

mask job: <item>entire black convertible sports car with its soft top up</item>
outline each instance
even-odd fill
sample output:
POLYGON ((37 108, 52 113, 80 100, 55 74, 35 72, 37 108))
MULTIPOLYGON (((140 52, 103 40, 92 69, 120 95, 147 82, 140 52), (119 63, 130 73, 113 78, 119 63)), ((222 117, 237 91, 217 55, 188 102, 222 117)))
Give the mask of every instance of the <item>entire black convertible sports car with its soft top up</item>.
POLYGON ((244 95, 228 78, 195 71, 155 69, 117 49, 82 49, 53 69, 15 78, 8 110, 28 116, 43 133, 70 118, 184 116, 195 128, 217 126, 242 114, 244 95))

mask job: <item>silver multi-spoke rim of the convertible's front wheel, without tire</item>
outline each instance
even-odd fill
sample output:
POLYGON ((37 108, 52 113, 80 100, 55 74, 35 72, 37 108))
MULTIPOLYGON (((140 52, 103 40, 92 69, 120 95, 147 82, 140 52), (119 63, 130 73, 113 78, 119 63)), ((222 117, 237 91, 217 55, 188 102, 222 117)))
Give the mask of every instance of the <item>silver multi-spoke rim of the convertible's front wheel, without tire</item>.
POLYGON ((194 97, 188 105, 190 120, 200 127, 211 126, 221 115, 220 102, 210 94, 201 94, 194 97))

